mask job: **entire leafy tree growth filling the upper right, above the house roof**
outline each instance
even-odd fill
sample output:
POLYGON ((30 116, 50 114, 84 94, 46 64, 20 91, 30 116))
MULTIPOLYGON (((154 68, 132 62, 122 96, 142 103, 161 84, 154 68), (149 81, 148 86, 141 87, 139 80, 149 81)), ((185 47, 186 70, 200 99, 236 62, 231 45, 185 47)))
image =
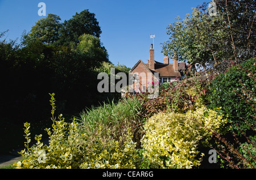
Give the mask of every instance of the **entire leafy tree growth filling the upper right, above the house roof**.
POLYGON ((224 59, 236 62, 255 55, 255 3, 247 0, 217 1, 217 14, 208 3, 193 8, 184 20, 170 24, 163 53, 180 61, 200 63, 205 69, 225 70, 224 59))

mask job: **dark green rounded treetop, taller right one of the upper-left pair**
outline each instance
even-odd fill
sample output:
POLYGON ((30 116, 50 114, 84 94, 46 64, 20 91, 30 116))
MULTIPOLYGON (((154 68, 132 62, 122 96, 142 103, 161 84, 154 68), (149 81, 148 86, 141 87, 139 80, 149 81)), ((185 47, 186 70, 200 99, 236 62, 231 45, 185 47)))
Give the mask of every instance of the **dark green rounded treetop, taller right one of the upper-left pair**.
POLYGON ((79 37, 89 34, 95 37, 100 37, 101 28, 98 25, 95 14, 89 10, 81 11, 69 20, 65 20, 63 27, 60 29, 60 44, 78 44, 79 37))

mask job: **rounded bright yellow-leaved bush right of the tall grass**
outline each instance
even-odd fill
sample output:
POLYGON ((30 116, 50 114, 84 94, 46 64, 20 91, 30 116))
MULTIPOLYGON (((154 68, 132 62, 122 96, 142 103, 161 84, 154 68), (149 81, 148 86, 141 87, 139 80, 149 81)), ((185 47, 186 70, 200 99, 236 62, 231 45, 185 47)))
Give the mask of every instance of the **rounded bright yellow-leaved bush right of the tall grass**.
MULTIPOLYGON (((200 165, 198 145, 208 143, 210 131, 220 131, 226 119, 204 106, 181 113, 158 113, 146 124, 142 138, 144 161, 150 168, 192 168, 200 165), (202 126, 203 125, 203 126, 202 126), (206 128, 205 128, 206 127, 206 128)), ((204 154, 201 153, 203 157, 204 154)))

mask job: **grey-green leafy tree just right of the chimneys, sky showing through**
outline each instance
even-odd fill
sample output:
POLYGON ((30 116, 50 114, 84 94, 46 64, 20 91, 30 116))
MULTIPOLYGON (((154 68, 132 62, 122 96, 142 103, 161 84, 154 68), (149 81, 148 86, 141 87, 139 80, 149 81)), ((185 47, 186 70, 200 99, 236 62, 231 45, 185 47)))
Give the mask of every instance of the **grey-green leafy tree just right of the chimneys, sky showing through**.
POLYGON ((216 24, 219 17, 211 18, 208 14, 193 9, 191 15, 187 14, 184 20, 176 18, 177 22, 170 24, 167 35, 169 41, 163 43, 163 53, 173 57, 175 54, 179 61, 200 63, 204 68, 214 63, 216 59, 216 46, 220 46, 224 32, 216 24))

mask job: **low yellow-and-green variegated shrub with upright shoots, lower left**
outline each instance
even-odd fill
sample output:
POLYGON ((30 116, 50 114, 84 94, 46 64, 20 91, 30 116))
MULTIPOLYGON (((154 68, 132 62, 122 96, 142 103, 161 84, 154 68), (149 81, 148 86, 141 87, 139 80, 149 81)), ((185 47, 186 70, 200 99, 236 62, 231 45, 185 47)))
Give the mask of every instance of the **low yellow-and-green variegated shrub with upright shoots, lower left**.
POLYGON ((22 161, 14 163, 16 168, 138 168, 139 153, 135 149, 130 128, 118 140, 111 137, 110 130, 101 126, 95 131, 80 131, 80 124, 73 119, 67 123, 62 115, 56 120, 55 98, 51 94, 52 130, 46 129, 49 145, 43 145, 42 135, 36 135, 36 144, 29 146, 30 123, 24 123, 25 147, 20 154, 22 161), (106 139, 102 138, 105 137, 106 139), (125 139, 125 140, 123 140, 125 139), (120 143, 122 141, 122 143, 120 143), (122 144, 122 145, 121 145, 122 144))

